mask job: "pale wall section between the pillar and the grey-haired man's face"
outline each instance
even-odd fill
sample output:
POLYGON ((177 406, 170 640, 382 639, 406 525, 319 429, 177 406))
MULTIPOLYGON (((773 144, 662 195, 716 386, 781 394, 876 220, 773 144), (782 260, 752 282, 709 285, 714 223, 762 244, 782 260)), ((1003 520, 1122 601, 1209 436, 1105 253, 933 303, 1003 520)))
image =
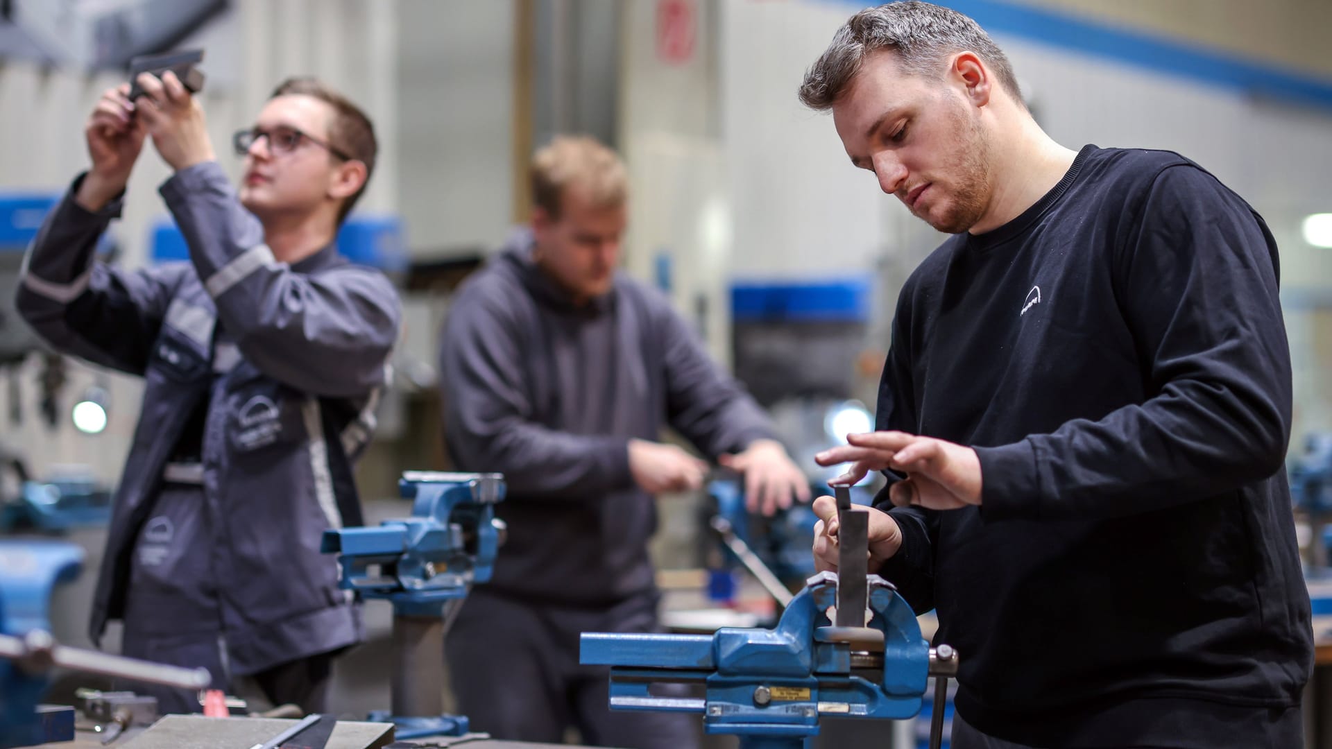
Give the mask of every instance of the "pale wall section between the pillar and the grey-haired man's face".
POLYGON ((805 69, 847 15, 829 3, 722 4, 722 131, 737 277, 864 273, 888 245, 892 200, 851 167, 831 117, 795 97, 805 69))

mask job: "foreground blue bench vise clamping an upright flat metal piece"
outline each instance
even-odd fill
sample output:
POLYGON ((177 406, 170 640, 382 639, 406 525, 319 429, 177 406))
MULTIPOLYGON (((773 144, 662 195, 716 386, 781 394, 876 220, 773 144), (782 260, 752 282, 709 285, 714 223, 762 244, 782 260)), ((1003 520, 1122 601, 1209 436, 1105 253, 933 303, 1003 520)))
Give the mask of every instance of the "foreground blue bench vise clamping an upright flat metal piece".
MULTIPOLYGON (((741 749, 807 749, 821 716, 904 720, 923 706, 928 677, 943 704, 958 653, 931 648, 896 588, 867 574, 868 514, 836 488, 839 570, 821 572, 775 629, 714 634, 587 633, 579 660, 610 666, 610 708, 703 713, 705 733, 737 734, 741 749), (835 613, 830 618, 829 610, 835 613), (702 697, 663 697, 677 684, 702 697)), ((935 710, 931 746, 942 737, 935 710)))

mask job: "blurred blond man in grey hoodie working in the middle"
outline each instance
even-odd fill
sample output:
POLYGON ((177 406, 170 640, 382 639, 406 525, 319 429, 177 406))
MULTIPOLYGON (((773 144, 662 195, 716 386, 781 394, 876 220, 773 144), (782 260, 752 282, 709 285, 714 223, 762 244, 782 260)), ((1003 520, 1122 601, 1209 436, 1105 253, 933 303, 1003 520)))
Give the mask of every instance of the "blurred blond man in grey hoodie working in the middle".
POLYGON ((691 716, 611 713, 581 632, 653 632, 653 494, 698 489, 707 464, 666 425, 743 472, 751 510, 807 500, 805 474, 754 400, 654 289, 617 269, 627 180, 614 152, 557 137, 531 165, 531 227, 460 291, 441 345, 445 438, 460 469, 505 474, 509 538, 448 641, 478 730, 679 749, 691 716))

